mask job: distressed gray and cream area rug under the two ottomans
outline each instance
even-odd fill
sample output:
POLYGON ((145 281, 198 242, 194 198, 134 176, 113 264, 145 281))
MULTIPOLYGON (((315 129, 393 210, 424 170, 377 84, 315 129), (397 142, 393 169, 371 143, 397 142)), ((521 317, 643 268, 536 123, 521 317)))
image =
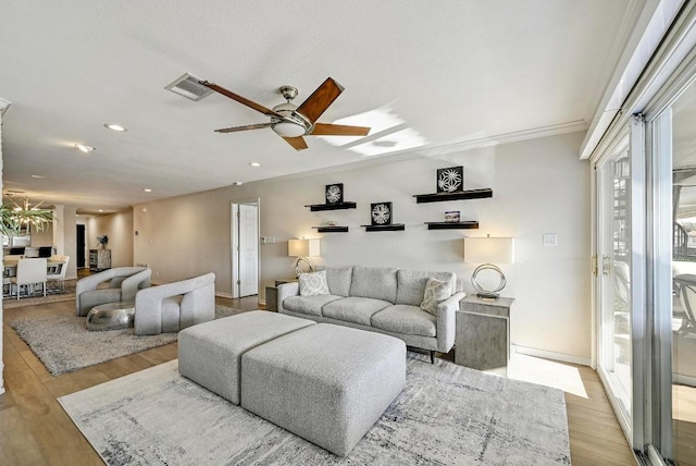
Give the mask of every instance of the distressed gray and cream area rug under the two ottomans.
POLYGON ((178 373, 177 360, 59 398, 108 465, 568 465, 563 392, 409 353, 407 388, 345 458, 178 373))

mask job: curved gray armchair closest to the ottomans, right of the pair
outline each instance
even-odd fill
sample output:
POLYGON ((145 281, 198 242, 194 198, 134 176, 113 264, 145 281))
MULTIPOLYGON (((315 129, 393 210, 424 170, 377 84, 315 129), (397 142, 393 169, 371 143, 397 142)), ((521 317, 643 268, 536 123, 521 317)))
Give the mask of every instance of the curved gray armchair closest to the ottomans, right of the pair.
POLYGON ((215 274, 139 291, 135 296, 135 334, 177 332, 215 318, 215 274))

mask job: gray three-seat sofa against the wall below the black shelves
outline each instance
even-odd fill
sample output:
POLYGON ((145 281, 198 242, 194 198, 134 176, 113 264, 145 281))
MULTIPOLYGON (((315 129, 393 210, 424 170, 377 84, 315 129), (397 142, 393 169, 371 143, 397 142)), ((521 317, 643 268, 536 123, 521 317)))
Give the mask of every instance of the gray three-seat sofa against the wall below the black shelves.
POLYGON ((300 296, 299 283, 277 287, 278 312, 396 336, 407 345, 448 353, 455 345, 459 301, 457 275, 386 267, 330 267, 328 294, 300 296), (449 283, 436 316, 420 308, 428 278, 449 283))

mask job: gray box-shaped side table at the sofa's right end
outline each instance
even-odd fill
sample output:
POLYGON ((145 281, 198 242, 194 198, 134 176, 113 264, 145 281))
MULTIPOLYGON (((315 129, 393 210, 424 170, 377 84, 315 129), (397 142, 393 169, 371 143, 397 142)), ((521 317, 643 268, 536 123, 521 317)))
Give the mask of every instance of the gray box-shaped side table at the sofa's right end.
POLYGON ((455 363, 478 370, 507 368, 510 359, 510 307, 513 298, 459 302, 455 363))

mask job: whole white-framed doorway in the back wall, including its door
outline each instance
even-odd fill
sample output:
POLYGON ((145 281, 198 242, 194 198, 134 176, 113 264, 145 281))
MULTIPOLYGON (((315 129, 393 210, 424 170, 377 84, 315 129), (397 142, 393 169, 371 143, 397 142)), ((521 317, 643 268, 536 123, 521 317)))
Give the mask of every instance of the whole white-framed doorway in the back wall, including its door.
POLYGON ((259 199, 232 204, 232 296, 259 294, 259 199))

